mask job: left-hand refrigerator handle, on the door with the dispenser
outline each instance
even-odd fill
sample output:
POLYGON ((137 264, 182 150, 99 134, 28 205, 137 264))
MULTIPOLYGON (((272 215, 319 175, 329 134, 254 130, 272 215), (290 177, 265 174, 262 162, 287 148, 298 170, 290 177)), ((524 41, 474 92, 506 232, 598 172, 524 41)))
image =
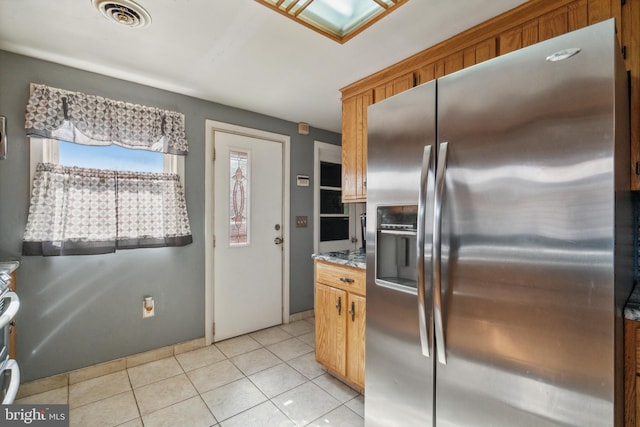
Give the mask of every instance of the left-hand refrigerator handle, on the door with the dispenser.
MULTIPOLYGON (((427 212, 427 185, 429 183, 429 174, 431 169, 431 145, 424 147, 422 153, 422 168, 420 171, 420 189, 418 190, 418 227, 417 234, 417 261, 418 267, 418 323, 420 326, 420 346, 422 355, 431 357, 429 352, 429 344, 431 342, 427 327, 427 304, 426 304, 426 282, 424 268, 424 252, 425 252, 425 220, 427 212)), ((430 322, 429 322, 430 323, 430 322)))

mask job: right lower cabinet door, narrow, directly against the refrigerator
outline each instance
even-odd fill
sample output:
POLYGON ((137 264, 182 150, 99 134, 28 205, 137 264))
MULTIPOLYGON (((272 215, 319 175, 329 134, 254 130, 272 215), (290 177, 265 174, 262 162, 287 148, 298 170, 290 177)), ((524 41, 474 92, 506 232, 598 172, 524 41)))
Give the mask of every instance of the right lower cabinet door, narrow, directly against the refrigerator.
POLYGON ((361 389, 364 389, 365 309, 366 300, 364 297, 349 294, 347 378, 361 389))

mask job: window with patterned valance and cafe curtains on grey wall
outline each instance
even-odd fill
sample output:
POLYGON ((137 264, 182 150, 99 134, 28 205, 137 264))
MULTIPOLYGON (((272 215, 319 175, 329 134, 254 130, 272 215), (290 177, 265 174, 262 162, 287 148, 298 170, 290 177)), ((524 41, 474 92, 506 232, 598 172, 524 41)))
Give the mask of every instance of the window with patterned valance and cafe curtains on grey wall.
POLYGON ((23 255, 192 242, 182 114, 32 85, 25 128, 32 190, 23 255))

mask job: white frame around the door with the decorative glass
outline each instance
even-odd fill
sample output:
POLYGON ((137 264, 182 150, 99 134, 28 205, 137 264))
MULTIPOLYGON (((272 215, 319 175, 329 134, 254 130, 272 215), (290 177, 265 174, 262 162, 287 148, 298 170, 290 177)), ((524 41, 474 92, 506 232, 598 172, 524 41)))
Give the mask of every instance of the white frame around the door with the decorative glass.
POLYGON ((272 132, 267 132, 259 129, 252 129, 243 126, 232 125, 229 123, 217 122, 214 120, 205 120, 205 215, 204 215, 204 239, 205 239, 205 304, 204 304, 204 338, 205 345, 213 343, 213 287, 214 287, 214 251, 213 251, 213 233, 214 233, 214 163, 213 163, 213 148, 214 148, 214 132, 227 132, 238 135, 250 136, 253 138, 268 139, 270 141, 279 142, 283 145, 284 149, 284 164, 283 164, 283 206, 282 206, 282 238, 284 239, 284 253, 282 262, 282 321, 284 323, 289 322, 289 259, 291 250, 291 234, 290 234, 290 204, 291 204, 291 189, 289 187, 291 180, 290 173, 290 145, 291 137, 289 135, 282 135, 272 132))

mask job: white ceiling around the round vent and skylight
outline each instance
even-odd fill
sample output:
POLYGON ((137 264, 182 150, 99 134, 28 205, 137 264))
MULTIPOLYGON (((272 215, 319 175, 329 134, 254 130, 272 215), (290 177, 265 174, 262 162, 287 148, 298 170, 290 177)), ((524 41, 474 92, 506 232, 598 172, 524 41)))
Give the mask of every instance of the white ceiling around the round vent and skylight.
POLYGON ((525 2, 410 0, 341 45, 254 0, 136 1, 150 26, 0 0, 0 49, 340 132, 342 87, 525 2))

